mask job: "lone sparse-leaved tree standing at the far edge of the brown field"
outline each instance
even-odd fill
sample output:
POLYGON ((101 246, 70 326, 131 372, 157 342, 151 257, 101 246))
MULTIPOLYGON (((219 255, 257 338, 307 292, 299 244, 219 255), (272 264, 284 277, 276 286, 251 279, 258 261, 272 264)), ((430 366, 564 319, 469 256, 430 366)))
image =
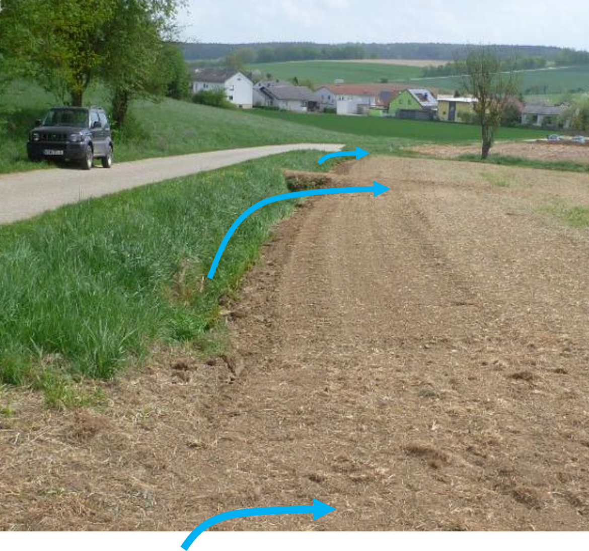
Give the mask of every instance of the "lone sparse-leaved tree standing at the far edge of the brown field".
POLYGON ((507 106, 518 94, 517 76, 502 69, 501 59, 491 46, 471 50, 466 59, 463 84, 477 99, 474 111, 481 125, 482 159, 489 156, 507 106))

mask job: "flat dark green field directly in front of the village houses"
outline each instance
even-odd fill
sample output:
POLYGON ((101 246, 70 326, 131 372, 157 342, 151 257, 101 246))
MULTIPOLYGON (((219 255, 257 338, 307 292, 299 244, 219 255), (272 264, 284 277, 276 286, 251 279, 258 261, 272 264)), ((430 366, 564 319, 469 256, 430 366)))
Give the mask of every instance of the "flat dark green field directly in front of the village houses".
MULTIPOLYGON (((400 119, 378 119, 360 116, 319 115, 289 113, 283 111, 266 111, 254 109, 260 117, 310 126, 317 131, 339 132, 346 135, 372 136, 372 138, 404 139, 407 142, 461 143, 481 139, 481 128, 436 121, 405 121, 400 119)), ((545 131, 527 128, 501 128, 498 138, 504 140, 524 140, 544 138, 545 131)), ((346 142, 347 143, 347 142, 346 142)))

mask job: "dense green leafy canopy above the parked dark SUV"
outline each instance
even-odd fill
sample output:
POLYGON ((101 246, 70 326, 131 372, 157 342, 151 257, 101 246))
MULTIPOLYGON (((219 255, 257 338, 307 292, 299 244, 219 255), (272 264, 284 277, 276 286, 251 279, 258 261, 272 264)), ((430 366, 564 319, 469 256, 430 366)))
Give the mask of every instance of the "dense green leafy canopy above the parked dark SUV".
POLYGON ((94 79, 107 82, 115 122, 123 121, 131 98, 168 91, 160 75, 170 75, 177 64, 158 71, 158 62, 164 39, 174 31, 171 21, 184 2, 4 0, 0 47, 18 65, 28 60, 29 72, 40 84, 72 105, 82 105, 94 79))

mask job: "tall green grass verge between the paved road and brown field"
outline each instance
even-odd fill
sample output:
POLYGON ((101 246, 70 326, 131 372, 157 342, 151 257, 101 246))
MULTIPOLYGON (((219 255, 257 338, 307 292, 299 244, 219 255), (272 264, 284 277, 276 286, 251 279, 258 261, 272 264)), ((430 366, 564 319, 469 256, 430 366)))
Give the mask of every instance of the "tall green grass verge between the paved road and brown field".
POLYGON ((62 403, 71 376, 109 378, 155 342, 198 344, 293 202, 250 216, 209 280, 223 236, 254 203, 287 192, 281 168, 318 170, 317 158, 289 153, 0 227, 0 383, 62 403))

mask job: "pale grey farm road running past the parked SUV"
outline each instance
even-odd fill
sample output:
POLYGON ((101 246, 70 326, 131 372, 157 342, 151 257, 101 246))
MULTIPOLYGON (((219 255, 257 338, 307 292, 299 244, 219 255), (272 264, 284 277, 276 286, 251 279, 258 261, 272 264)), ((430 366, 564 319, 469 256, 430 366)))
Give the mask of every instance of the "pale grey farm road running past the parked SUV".
POLYGON ((75 167, 0 174, 0 225, 32 218, 69 203, 85 201, 170 178, 210 171, 289 151, 339 151, 341 144, 296 143, 227 149, 173 157, 115 163, 109 171, 82 172, 75 167))

